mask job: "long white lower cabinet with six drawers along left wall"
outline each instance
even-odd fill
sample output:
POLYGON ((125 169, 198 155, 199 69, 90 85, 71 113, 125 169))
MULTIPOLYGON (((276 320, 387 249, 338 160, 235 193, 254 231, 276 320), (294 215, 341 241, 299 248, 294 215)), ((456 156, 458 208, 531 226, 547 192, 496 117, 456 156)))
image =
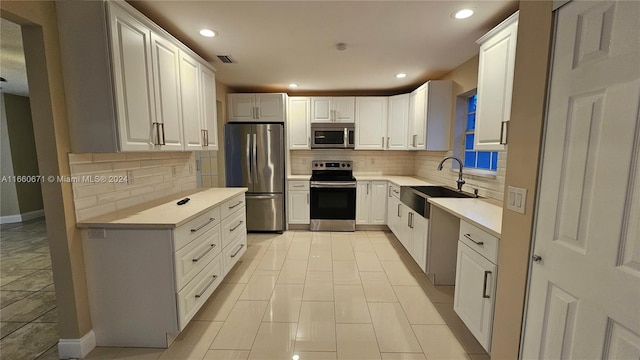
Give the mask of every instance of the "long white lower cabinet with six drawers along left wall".
POLYGON ((246 251, 245 214, 240 194, 175 228, 83 229, 97 345, 168 347, 246 251))

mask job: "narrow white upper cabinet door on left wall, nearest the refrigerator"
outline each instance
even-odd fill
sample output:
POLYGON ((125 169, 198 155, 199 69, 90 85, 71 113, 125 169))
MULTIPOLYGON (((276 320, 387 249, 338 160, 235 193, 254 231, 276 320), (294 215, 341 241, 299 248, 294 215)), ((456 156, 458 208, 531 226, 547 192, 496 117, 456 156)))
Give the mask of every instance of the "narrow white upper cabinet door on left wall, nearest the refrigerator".
POLYGON ((216 100, 216 74, 200 64, 201 127, 203 146, 201 150, 218 150, 218 113, 216 100))

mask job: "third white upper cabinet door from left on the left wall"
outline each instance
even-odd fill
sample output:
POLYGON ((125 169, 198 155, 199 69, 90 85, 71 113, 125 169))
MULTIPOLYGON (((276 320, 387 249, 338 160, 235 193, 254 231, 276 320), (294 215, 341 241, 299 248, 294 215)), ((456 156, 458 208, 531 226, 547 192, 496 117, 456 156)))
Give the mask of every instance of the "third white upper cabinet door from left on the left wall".
POLYGON ((200 120, 200 63, 180 51, 180 97, 185 149, 202 149, 200 120))

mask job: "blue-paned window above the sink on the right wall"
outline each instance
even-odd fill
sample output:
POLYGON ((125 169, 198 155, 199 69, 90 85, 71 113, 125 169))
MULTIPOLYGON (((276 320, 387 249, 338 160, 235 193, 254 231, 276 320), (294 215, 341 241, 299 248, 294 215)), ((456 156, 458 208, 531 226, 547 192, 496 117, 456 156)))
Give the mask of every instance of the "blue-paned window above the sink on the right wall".
POLYGON ((478 95, 473 94, 467 98, 466 106, 466 132, 464 136, 464 167, 496 171, 498 169, 497 151, 474 151, 474 132, 476 130, 476 103, 478 95))

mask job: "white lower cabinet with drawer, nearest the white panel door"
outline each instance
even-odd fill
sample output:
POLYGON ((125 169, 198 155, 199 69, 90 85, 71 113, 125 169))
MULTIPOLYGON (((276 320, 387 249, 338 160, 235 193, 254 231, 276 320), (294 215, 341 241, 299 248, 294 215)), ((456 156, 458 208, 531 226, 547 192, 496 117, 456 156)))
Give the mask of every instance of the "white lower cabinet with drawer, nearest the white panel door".
POLYGON ((487 352, 491 350, 498 276, 494 248, 497 238, 460 221, 453 309, 487 352))

